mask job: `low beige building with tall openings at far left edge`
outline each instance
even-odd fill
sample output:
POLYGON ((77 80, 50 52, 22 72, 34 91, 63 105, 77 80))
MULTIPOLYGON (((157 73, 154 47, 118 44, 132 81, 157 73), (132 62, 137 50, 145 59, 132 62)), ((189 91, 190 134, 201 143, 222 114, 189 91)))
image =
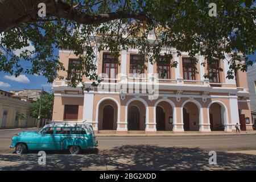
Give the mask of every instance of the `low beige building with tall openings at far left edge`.
POLYGON ((17 127, 34 127, 36 118, 30 116, 30 108, 33 100, 23 100, 13 97, 14 93, 0 90, 0 129, 17 128, 17 127), (23 113, 25 121, 20 123, 18 113, 23 113))

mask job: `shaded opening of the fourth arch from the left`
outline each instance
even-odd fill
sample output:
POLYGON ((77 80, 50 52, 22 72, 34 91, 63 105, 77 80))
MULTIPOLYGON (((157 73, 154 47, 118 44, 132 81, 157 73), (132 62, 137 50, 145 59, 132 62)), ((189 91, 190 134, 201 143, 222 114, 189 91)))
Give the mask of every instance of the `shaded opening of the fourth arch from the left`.
POLYGON ((199 107, 193 102, 187 102, 183 106, 184 131, 199 131, 199 107))

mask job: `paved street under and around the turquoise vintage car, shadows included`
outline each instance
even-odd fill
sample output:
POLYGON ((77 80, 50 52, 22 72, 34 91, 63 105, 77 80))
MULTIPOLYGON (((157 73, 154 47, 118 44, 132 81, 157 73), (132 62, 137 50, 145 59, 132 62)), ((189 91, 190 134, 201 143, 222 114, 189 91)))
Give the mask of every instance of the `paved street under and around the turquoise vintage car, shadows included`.
POLYGON ((38 164, 36 152, 11 154, 10 138, 17 130, 0 131, 0 169, 254 169, 256 135, 185 137, 97 137, 98 152, 73 156, 47 152, 47 165, 38 164), (209 165, 209 151, 217 151, 217 165, 209 165))

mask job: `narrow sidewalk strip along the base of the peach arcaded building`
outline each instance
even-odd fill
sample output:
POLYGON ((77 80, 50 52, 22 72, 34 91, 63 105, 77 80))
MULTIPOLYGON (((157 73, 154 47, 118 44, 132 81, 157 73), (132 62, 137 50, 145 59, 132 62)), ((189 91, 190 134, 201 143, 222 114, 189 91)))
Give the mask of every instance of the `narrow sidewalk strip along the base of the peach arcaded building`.
POLYGON ((145 134, 145 133, 97 133, 96 137, 147 137, 147 136, 211 136, 211 135, 256 135, 256 131, 242 131, 240 134, 235 132, 225 131, 211 131, 211 132, 199 132, 199 131, 184 131, 184 133, 174 133, 173 131, 160 131, 159 133, 145 134))

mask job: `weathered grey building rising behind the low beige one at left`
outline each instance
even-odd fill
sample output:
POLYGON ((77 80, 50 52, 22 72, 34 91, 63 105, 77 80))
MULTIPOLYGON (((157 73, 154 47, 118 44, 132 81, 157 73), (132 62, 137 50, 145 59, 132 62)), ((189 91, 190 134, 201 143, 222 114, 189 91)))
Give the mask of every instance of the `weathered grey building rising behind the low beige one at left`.
MULTIPOLYGON (((14 98, 19 98, 20 100, 33 100, 37 101, 42 93, 41 89, 24 89, 24 90, 11 90, 14 98)), ((48 94, 48 92, 43 91, 43 94, 48 94)))

